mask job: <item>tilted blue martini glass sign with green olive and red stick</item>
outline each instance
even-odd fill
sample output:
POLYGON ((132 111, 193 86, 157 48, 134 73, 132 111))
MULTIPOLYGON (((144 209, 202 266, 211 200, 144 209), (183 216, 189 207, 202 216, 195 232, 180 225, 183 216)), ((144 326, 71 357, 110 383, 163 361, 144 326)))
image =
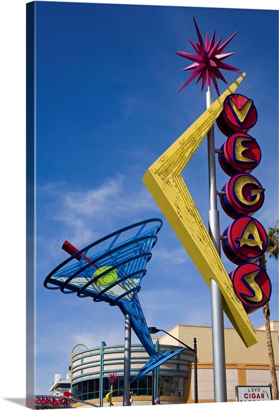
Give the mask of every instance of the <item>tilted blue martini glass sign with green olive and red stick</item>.
POLYGON ((185 348, 156 353, 137 297, 161 227, 161 219, 147 219, 113 232, 80 251, 65 241, 62 249, 71 256, 44 281, 47 289, 76 293, 79 298, 92 297, 94 302, 104 301, 118 306, 124 316, 129 315, 134 333, 150 356, 133 380, 143 377, 185 348), (94 254, 88 257, 90 250, 94 254), (74 259, 78 262, 71 264, 74 259))

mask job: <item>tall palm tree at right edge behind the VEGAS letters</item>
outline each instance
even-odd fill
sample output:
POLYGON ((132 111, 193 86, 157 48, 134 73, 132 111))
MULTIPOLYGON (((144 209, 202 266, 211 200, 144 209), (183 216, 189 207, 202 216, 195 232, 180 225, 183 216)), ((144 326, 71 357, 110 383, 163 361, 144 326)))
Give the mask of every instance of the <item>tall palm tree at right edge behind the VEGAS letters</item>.
MULTIPOLYGON (((279 230, 279 221, 277 221, 275 228, 268 228, 267 238, 268 245, 266 254, 270 258, 278 259, 278 230, 279 230)), ((266 271, 266 256, 265 254, 257 260, 258 264, 266 271)), ((271 384, 272 384, 272 395, 273 400, 278 400, 278 384, 275 371, 275 362, 274 362, 274 352, 271 340, 270 332, 270 310, 269 303, 267 302, 263 306, 264 318, 265 318, 265 327, 266 327, 266 341, 267 341, 267 351, 270 364, 270 374, 271 374, 271 384)))

